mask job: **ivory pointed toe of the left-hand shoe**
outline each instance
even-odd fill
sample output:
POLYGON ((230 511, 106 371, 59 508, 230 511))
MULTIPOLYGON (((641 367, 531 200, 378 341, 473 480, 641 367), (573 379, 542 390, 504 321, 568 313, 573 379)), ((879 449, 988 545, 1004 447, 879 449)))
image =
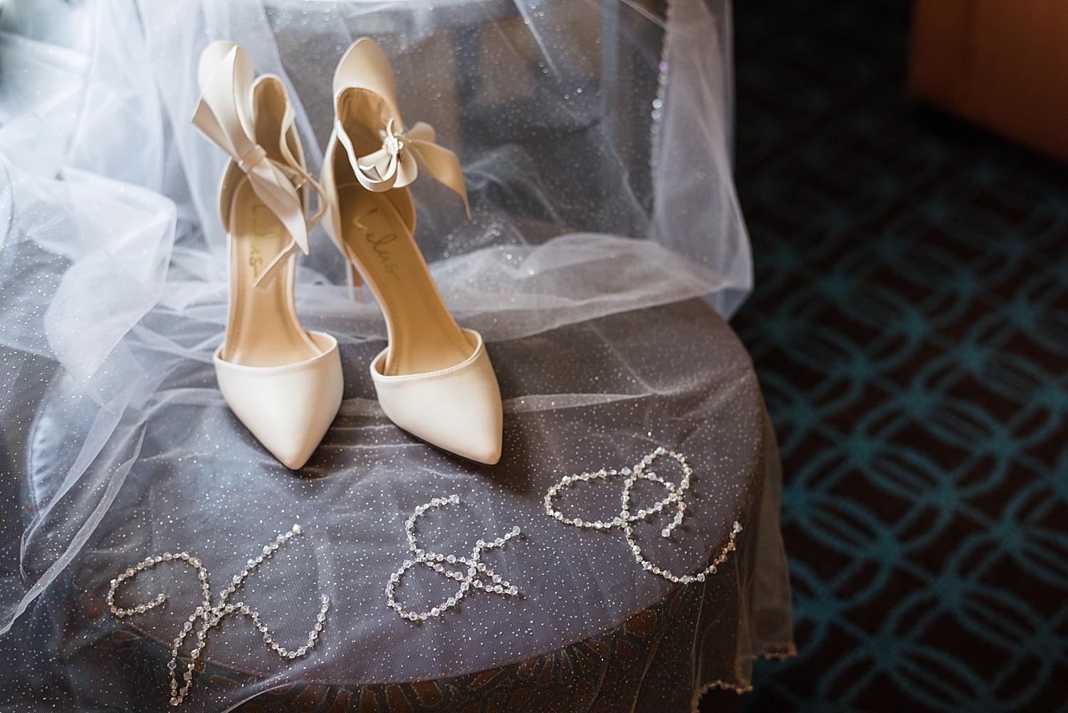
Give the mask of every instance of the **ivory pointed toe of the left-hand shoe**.
POLYGON ((242 367, 215 353, 219 390, 252 435, 287 468, 311 458, 341 407, 345 385, 337 341, 310 331, 323 354, 282 367, 242 367))

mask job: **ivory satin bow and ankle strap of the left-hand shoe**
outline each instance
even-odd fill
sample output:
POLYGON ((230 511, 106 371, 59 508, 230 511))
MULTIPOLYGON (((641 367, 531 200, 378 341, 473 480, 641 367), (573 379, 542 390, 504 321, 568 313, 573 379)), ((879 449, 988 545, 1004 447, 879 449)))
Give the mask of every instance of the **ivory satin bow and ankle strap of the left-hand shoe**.
POLYGON ((305 220, 297 191, 308 183, 318 190, 318 184, 301 168, 286 144, 285 137, 294 122, 292 106, 286 105, 279 142, 284 162, 270 158, 252 138, 255 136, 252 104, 255 86, 274 77, 264 75, 254 80, 252 59, 245 49, 229 42, 213 43, 201 56, 198 74, 203 94, 193 113, 193 124, 248 175, 256 197, 278 216, 293 238, 258 277, 255 283, 260 286, 269 281, 276 269, 298 248, 308 254, 308 231, 318 222, 323 210, 305 220), (298 180, 297 185, 294 180, 298 180))

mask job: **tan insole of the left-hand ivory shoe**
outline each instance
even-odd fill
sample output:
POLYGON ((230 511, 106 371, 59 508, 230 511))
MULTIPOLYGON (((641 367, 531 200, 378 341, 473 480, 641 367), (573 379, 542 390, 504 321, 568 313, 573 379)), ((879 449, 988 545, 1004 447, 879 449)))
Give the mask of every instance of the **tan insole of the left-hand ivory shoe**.
POLYGON ((300 326, 293 298, 296 254, 273 279, 255 281, 290 243, 289 232, 252 190, 234 191, 230 212, 230 321, 223 358, 245 367, 282 367, 323 352, 300 326))

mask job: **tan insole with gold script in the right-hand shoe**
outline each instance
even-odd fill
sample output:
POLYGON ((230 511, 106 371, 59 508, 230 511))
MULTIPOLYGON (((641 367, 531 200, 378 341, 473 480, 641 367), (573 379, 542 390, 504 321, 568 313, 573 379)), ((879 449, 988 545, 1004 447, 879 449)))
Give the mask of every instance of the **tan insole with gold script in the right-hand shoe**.
MULTIPOLYGON (((423 253, 390 193, 359 184, 337 189, 342 239, 375 294, 390 337, 384 375, 422 374, 455 367, 474 352, 438 292, 423 253)), ((407 201, 408 196, 398 196, 407 201)))

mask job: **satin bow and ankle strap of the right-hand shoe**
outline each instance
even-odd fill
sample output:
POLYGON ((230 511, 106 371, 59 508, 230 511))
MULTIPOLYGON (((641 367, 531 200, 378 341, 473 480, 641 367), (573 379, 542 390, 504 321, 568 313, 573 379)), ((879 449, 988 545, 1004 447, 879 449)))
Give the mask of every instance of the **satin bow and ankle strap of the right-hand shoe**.
POLYGON ((456 154, 435 143, 434 127, 426 122, 405 131, 389 60, 377 45, 358 45, 354 49, 334 73, 333 91, 335 97, 345 91, 367 93, 361 98, 368 110, 352 112, 344 126, 341 118, 335 122, 335 134, 345 146, 357 181, 367 190, 380 193, 407 186, 422 168, 464 199, 470 218, 464 171, 456 154), (380 141, 381 148, 359 155, 354 138, 361 146, 380 141))

